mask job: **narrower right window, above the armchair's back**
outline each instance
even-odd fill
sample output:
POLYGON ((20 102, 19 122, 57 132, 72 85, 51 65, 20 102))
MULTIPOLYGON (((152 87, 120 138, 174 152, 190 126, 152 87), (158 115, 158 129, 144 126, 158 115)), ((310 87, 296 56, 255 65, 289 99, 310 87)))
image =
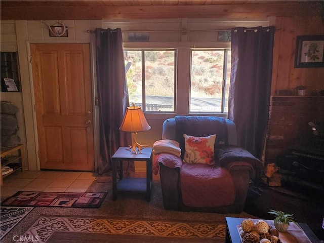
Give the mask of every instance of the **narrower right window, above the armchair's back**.
POLYGON ((190 113, 228 111, 230 50, 191 50, 190 113))

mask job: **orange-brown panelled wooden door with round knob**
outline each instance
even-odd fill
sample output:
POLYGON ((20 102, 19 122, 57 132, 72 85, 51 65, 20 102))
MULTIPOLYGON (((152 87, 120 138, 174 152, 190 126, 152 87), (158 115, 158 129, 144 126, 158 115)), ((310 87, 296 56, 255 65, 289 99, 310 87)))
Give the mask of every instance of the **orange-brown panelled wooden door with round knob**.
POLYGON ((94 171, 89 44, 31 44, 41 169, 94 171))

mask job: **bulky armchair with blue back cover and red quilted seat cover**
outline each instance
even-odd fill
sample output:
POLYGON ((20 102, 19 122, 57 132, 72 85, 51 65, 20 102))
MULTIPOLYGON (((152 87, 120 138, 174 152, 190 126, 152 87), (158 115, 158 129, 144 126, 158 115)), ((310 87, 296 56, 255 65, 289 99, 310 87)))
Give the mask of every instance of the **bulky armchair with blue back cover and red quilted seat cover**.
POLYGON ((260 175, 262 163, 247 150, 236 146, 236 128, 231 120, 175 116, 164 121, 162 139, 178 141, 182 151, 181 157, 170 153, 154 156, 159 165, 165 209, 216 213, 240 213, 243 210, 250 179, 260 175), (196 137, 216 134, 215 165, 183 163, 184 133, 196 137), (191 174, 198 178, 191 179, 191 174))

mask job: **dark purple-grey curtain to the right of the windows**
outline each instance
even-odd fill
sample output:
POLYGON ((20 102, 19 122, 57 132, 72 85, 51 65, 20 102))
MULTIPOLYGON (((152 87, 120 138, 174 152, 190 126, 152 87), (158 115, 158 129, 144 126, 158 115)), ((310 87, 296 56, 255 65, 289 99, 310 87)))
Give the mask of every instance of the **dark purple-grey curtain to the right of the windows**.
POLYGON ((231 31, 231 83, 228 118, 237 142, 261 159, 271 92, 274 26, 231 31))

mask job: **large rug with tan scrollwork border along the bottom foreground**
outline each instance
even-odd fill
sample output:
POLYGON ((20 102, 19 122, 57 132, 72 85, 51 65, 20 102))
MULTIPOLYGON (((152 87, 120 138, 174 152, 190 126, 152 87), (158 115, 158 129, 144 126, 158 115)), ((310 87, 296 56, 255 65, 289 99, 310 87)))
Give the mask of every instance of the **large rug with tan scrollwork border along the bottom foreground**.
POLYGON ((225 224, 42 216, 28 240, 66 242, 224 242, 225 224), (87 239, 87 240, 86 240, 87 239), (85 241, 86 240, 86 241, 85 241))

